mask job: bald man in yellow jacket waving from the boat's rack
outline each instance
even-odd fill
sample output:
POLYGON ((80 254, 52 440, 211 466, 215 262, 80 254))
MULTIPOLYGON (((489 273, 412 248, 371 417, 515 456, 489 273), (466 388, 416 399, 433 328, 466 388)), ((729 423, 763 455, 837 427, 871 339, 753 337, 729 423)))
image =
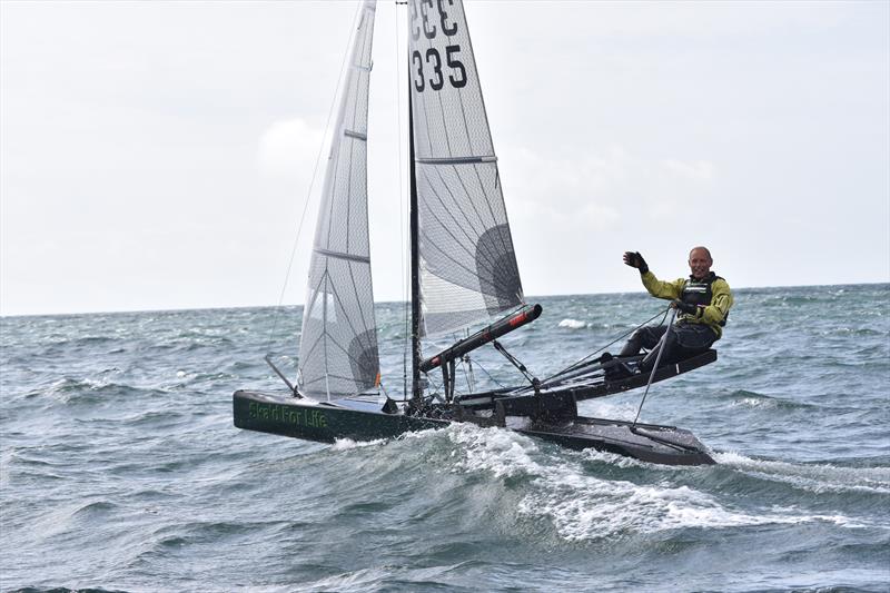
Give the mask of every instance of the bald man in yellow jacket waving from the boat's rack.
MULTIPOLYGON (((711 271, 714 261, 706 247, 692 248, 689 253, 692 274, 672 283, 657 279, 639 251, 626 251, 624 263, 640 270, 650 295, 671 300, 671 307, 678 309, 676 323, 662 346, 661 365, 700 354, 720 339, 733 299, 726 280, 711 271)), ((619 356, 632 356, 646 348, 649 353, 640 363, 639 372, 651 372, 659 355, 659 343, 666 330, 666 325, 641 327, 619 356)), ((614 373, 611 375, 610 378, 617 378, 614 373)))

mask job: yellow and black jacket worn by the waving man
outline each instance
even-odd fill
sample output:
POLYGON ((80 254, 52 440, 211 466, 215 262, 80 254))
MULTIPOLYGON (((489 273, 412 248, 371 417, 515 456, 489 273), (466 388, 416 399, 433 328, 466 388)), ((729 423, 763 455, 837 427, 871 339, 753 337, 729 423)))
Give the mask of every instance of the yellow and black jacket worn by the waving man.
POLYGON ((678 319, 688 324, 704 324, 716 334, 723 335, 726 316, 732 307, 732 293, 726 280, 714 274, 696 280, 692 276, 679 278, 672 283, 661 281, 651 271, 642 275, 643 286, 649 294, 657 298, 673 300, 679 298, 684 303, 695 305, 695 315, 680 313, 678 319))

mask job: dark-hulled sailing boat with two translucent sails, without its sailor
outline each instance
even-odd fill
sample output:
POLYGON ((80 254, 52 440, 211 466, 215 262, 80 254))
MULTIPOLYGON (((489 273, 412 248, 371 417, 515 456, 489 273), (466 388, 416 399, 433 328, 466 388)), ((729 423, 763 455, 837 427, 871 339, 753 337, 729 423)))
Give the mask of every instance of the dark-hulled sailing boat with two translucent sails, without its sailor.
POLYGON ((408 0, 411 383, 397 402, 377 393, 379 355, 367 209, 368 88, 375 0, 353 34, 315 229, 297 380, 283 392, 237 391, 239 428, 333 443, 395 438, 453 423, 500 427, 558 445, 672 465, 714 463, 689 431, 578 415, 577 403, 647 386, 716 359, 708 350, 652 375, 611 380, 600 357, 540 380, 497 340, 532 323, 462 0, 408 0), (485 325, 424 357, 423 339, 485 325), (523 377, 515 387, 456 393, 456 364, 493 345, 523 377), (441 388, 426 377, 441 374, 441 388), (370 394, 370 396, 368 396, 370 394))

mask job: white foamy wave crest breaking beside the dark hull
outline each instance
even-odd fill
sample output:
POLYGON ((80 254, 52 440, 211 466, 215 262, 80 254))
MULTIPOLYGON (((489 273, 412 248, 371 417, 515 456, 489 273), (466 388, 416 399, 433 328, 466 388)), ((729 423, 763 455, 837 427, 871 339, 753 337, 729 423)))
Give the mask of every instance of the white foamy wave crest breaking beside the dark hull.
MULTIPOLYGON (((522 488, 518 514, 548 520, 558 537, 568 542, 680 528, 714 530, 807 522, 862 526, 857 520, 840 513, 808 513, 797 508, 743 511, 726 506, 714 495, 689 485, 668 482, 636 484, 590 475, 576 458, 562 453, 548 454, 538 447, 536 441, 497 428, 459 426, 448 428, 447 434, 458 445, 453 454, 457 457, 453 471, 506 480, 513 487, 522 488)), ((585 458, 612 461, 595 453, 585 454, 585 458)), ((624 467, 644 465, 623 459, 615 459, 615 463, 624 467)))

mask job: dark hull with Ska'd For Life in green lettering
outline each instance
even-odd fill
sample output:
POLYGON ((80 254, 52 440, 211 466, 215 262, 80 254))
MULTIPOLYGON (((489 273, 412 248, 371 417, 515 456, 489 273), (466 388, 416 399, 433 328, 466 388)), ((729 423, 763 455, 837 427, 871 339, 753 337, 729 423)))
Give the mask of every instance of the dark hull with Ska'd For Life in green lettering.
MULTIPOLYGON (((387 414, 380 405, 364 399, 340 399, 323 404, 290 394, 238 391, 233 396, 235 426, 306 441, 333 443, 338 438, 374 441, 428 428, 444 428, 454 422, 494 425, 478 417, 434 418, 412 416, 402 411, 387 414)), ((595 448, 644 462, 666 465, 715 463, 695 436, 673 426, 577 416, 550 422, 530 416, 505 416, 504 428, 572 448, 595 448)))

